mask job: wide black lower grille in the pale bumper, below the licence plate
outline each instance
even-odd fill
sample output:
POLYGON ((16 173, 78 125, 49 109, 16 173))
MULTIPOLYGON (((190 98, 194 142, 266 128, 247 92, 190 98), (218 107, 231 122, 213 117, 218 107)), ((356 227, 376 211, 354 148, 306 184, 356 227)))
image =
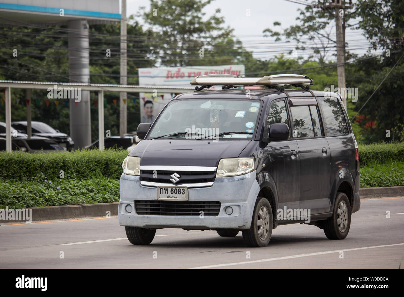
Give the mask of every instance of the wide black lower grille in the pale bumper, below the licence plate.
POLYGON ((164 201, 135 200, 138 215, 203 215, 217 216, 220 211, 219 201, 164 201))

